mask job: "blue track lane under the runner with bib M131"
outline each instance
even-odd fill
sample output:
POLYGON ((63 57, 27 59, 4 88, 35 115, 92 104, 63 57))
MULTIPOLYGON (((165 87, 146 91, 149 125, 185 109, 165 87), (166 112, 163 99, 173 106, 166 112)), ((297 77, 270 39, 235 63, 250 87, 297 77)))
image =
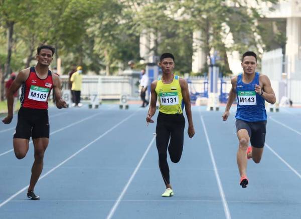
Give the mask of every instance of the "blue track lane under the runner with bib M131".
MULTIPOLYGON (((187 123, 181 161, 174 164, 168 158, 175 195, 170 198, 161 197, 165 185, 154 142, 113 218, 123 218, 123 215, 129 218, 225 217, 204 131, 201 124, 196 122, 198 111, 196 108, 193 111, 195 137, 189 139, 187 123)), ((155 129, 156 123, 147 127, 148 135, 152 135, 155 129)), ((145 141, 145 149, 149 142, 145 141)))

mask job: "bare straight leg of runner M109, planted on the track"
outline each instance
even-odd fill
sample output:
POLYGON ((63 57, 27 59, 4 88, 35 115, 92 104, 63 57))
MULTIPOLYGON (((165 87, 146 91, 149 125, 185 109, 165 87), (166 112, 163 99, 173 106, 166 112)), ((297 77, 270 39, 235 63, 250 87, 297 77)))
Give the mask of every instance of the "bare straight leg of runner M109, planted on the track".
POLYGON ((43 170, 43 158, 49 143, 49 138, 35 138, 33 139, 33 142, 35 147, 35 161, 32 167, 32 175, 30 178, 28 191, 34 190, 34 187, 43 170))

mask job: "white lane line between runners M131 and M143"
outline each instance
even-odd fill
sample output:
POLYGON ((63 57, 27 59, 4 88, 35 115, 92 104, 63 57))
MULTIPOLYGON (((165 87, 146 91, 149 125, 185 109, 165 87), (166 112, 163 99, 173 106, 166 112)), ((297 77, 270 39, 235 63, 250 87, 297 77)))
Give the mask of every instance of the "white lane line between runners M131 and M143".
MULTIPOLYGON (((201 113, 200 113, 200 116, 201 116, 201 113)), ((206 140, 207 140, 207 144, 208 144, 208 148, 209 148, 209 152, 210 152, 210 157, 211 157, 211 161, 212 161, 213 168, 214 168, 214 173, 215 173, 216 181, 217 181, 217 184, 218 184, 218 189, 219 189, 220 196, 221 196, 221 199, 222 199, 222 202, 223 202, 225 216, 226 216, 227 219, 230 219, 231 218, 230 210, 229 210, 229 207, 228 207, 228 204, 227 204, 227 200, 226 200, 226 197, 225 197, 225 193, 224 193, 224 189, 223 189, 223 186, 222 186, 222 183, 221 183, 221 179, 220 179, 217 167, 216 167, 215 158, 214 158, 214 155, 213 155, 213 152, 212 152, 212 147, 211 147, 211 143, 210 143, 210 140, 209 140, 209 137, 208 137, 208 134, 207 134, 207 129, 206 129, 206 126, 205 126, 205 123, 204 123, 204 120, 203 120, 203 116, 201 116, 201 121, 202 121, 203 129, 204 129, 204 132, 205 132, 206 140)))

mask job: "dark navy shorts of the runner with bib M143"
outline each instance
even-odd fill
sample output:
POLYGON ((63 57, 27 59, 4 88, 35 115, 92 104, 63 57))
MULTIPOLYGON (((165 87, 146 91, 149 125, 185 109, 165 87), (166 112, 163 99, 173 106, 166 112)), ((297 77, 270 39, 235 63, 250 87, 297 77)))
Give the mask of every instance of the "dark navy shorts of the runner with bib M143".
POLYGON ((244 120, 236 119, 236 133, 240 129, 246 129, 249 133, 251 145, 256 148, 263 148, 265 141, 265 121, 247 122, 244 120))

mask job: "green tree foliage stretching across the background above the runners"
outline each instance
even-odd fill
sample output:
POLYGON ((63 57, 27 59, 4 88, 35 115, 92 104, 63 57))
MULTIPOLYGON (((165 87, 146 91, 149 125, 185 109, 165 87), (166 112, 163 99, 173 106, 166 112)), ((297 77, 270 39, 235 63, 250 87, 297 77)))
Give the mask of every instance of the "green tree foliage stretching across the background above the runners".
MULTIPOLYGON (((276 3, 276 0, 258 2, 276 3)), ((227 52, 269 49, 285 44, 285 36, 275 33, 274 44, 258 20, 260 12, 244 0, 1 0, 0 72, 8 57, 11 70, 33 64, 39 43, 56 47, 64 73, 82 65, 84 72, 114 74, 129 60, 138 62, 142 31, 156 36, 150 51, 155 55, 176 55, 176 71, 191 72, 192 36, 201 31, 202 49, 207 57, 216 51, 219 64, 229 71, 227 52), (11 54, 8 30, 14 25, 11 54), (254 34, 255 33, 255 34, 254 34), (233 36, 227 46, 226 36, 233 36), (260 39, 260 36, 262 38, 260 39), (283 43, 284 42, 284 43, 283 43)), ((56 65, 54 61, 53 65, 56 65)), ((7 75, 4 75, 6 77, 7 75)))

